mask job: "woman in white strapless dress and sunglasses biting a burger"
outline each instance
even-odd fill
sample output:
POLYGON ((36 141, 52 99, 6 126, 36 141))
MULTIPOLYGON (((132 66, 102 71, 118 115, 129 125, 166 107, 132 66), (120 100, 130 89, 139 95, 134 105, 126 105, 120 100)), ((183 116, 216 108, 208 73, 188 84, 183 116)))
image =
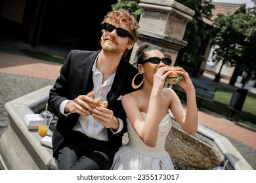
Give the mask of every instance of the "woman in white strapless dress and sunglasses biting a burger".
MULTIPOLYGON (((171 110, 182 129, 194 135, 198 129, 198 110, 194 86, 182 67, 170 67, 171 59, 148 43, 137 50, 137 69, 144 82, 139 90, 123 96, 127 115, 129 142, 116 153, 111 169, 174 169, 165 151, 165 139, 171 129, 171 110), (178 83, 186 91, 186 111, 171 88, 164 88, 165 78, 176 72, 178 83)), ((135 76, 136 77, 136 76, 135 76)))

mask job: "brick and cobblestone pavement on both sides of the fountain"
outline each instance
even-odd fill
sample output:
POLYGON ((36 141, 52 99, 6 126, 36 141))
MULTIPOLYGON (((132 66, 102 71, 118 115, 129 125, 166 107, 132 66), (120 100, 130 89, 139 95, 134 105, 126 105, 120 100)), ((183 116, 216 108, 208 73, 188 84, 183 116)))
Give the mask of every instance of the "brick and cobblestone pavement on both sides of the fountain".
MULTIPOLYGON (((4 104, 48 85, 53 85, 61 65, 29 58, 20 48, 67 56, 73 48, 42 44, 31 47, 20 40, 0 37, 0 135, 9 123, 4 104)), ((185 107, 185 106, 184 106, 185 107)), ((226 117, 201 108, 199 123, 226 137, 256 169, 256 132, 226 117)))

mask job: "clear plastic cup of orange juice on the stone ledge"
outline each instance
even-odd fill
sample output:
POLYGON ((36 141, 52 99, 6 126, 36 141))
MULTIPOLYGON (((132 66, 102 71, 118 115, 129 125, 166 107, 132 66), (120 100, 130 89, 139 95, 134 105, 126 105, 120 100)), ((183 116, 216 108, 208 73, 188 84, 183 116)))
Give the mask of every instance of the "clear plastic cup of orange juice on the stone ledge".
POLYGON ((49 125, 51 124, 51 121, 53 120, 53 114, 45 110, 40 113, 40 118, 42 119, 39 126, 38 126, 38 135, 41 137, 45 137, 47 134, 47 131, 49 129, 49 125))

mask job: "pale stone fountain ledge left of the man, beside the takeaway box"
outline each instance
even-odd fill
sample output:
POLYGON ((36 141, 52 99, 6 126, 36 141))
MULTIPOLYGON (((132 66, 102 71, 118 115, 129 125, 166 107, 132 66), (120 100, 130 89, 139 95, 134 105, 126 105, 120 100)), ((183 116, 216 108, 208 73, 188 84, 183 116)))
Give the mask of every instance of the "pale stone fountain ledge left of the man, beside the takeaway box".
POLYGON ((58 169, 52 149, 40 144, 43 137, 24 124, 25 114, 34 114, 33 111, 45 106, 52 87, 46 86, 5 104, 10 122, 0 137, 0 154, 7 169, 58 169))

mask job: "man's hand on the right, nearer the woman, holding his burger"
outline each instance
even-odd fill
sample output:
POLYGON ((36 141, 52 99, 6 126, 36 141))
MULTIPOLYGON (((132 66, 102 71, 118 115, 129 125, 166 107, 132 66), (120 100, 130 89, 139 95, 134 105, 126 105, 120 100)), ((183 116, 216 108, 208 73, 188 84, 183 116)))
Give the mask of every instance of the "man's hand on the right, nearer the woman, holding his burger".
POLYGON ((112 128, 117 131, 119 128, 119 120, 114 116, 114 112, 104 107, 93 108, 92 115, 106 128, 112 128))

